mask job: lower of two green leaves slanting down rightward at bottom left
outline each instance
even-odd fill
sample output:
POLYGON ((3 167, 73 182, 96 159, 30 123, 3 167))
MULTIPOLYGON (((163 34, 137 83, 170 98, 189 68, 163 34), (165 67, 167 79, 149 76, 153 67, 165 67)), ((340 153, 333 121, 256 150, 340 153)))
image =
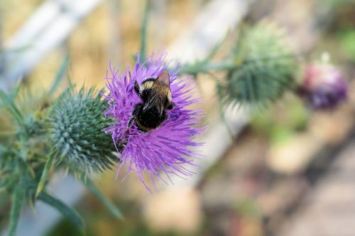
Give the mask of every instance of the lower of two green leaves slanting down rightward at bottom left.
POLYGON ((79 215, 79 213, 77 213, 75 209, 71 208, 70 206, 67 206, 67 204, 63 203, 58 198, 51 196, 45 191, 40 193, 38 199, 47 203, 50 206, 53 206, 53 208, 56 208, 58 211, 60 211, 60 213, 62 213, 62 215, 72 221, 74 225, 79 227, 80 230, 84 229, 84 220, 82 220, 81 216, 79 215))

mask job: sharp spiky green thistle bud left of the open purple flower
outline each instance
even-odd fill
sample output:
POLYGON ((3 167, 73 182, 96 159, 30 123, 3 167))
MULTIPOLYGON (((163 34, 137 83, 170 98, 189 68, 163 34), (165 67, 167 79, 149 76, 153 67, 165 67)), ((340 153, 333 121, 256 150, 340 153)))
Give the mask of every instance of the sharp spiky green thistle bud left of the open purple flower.
POLYGON ((102 172, 117 160, 111 137, 102 130, 109 125, 103 116, 104 101, 94 89, 66 91, 50 114, 50 141, 60 161, 76 174, 102 172))

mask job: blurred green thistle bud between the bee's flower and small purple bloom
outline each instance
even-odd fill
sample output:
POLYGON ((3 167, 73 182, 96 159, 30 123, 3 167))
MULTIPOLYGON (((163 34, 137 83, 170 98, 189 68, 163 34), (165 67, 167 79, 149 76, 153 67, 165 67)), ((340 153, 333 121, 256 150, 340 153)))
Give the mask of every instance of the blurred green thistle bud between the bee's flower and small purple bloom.
POLYGON ((272 23, 263 21, 242 33, 231 60, 236 69, 228 73, 222 87, 231 103, 263 105, 295 84, 295 55, 283 31, 272 23))

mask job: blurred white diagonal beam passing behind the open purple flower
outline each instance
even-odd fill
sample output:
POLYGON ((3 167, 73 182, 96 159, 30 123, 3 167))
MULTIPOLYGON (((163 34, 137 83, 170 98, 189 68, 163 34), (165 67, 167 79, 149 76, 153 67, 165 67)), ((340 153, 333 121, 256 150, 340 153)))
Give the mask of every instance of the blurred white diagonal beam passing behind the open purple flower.
MULTIPOLYGON (((217 43, 223 40, 228 30, 236 28, 248 13, 249 5, 252 2, 244 0, 211 1, 195 18, 191 27, 183 31, 180 38, 168 48, 168 56, 179 62, 202 60, 217 43)), ((229 108, 224 116, 226 124, 221 120, 217 123, 209 123, 208 133, 200 140, 205 143, 203 147, 199 147, 204 158, 197 163, 200 165, 197 174, 188 180, 172 176, 173 187, 196 186, 204 176, 204 172, 222 157, 232 143, 226 125, 233 135, 237 135, 248 122, 245 113, 241 110, 236 111, 229 108)), ((196 172, 195 169, 194 172, 196 172)), ((168 188, 170 187, 168 186, 168 188)))

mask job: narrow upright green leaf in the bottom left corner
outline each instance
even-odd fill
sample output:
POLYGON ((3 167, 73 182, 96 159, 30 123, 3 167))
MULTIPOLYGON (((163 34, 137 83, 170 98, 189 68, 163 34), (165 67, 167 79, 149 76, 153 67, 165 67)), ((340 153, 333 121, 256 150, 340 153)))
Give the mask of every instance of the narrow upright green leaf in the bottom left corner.
POLYGON ((16 185, 11 197, 9 236, 15 235, 18 218, 20 218, 20 212, 23 205, 24 196, 25 194, 23 193, 22 184, 16 185))

